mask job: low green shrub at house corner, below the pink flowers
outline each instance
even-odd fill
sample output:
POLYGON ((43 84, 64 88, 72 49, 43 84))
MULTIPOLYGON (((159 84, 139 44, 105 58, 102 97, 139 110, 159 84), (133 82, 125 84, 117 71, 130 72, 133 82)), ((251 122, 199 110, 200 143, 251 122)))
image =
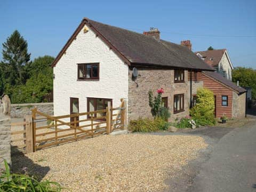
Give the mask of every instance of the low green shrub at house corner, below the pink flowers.
POLYGON ((169 123, 166 122, 161 117, 156 117, 155 119, 139 118, 137 120, 132 120, 129 123, 129 129, 133 132, 155 132, 159 130, 167 130, 169 123))

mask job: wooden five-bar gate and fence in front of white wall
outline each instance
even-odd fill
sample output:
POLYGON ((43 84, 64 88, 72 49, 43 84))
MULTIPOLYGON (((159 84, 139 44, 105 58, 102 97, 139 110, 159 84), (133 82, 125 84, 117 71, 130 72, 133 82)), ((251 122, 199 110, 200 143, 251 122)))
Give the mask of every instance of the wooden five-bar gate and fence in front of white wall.
POLYGON ((31 111, 32 115, 27 115, 23 122, 11 124, 12 127, 20 128, 12 129, 11 134, 17 137, 14 137, 11 144, 23 153, 109 134, 115 130, 123 130, 126 126, 127 110, 123 99, 117 108, 111 108, 109 102, 106 109, 78 114, 50 116, 37 108, 31 111))

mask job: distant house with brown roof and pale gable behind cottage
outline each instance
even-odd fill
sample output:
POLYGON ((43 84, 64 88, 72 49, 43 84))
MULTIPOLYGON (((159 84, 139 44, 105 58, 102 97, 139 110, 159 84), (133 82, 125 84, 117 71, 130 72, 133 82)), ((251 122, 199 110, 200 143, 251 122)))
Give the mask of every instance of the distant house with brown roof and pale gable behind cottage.
POLYGON ((196 55, 216 69, 223 77, 232 81, 232 70, 234 67, 226 49, 197 51, 196 55))

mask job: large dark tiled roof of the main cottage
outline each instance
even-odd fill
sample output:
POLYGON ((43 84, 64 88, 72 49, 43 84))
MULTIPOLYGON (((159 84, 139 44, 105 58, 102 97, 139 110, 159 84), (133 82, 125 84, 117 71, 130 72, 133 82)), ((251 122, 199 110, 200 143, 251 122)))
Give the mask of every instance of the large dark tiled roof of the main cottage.
POLYGON ((128 65, 154 65, 214 70, 185 46, 163 40, 157 40, 151 36, 106 25, 87 18, 82 20, 75 33, 69 38, 57 58, 53 61, 52 67, 56 65, 62 54, 65 53, 68 46, 84 25, 87 25, 91 30, 93 30, 94 33, 96 33, 102 41, 108 44, 108 46, 113 49, 113 51, 115 51, 128 65))

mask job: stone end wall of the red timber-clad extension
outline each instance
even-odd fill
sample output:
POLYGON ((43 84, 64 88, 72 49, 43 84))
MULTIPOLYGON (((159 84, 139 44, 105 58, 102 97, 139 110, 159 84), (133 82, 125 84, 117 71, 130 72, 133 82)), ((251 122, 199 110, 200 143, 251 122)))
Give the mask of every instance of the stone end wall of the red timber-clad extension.
POLYGON ((238 95, 233 91, 233 102, 232 102, 232 117, 233 118, 244 118, 245 117, 245 98, 246 93, 238 95))

